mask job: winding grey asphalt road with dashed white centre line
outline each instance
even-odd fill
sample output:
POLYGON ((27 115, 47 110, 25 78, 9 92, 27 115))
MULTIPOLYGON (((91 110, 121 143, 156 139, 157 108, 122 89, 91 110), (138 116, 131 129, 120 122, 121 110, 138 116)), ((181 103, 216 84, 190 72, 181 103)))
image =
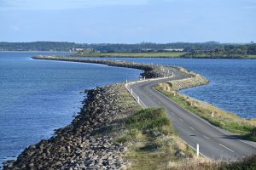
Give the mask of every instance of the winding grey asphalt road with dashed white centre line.
POLYGON ((174 73, 172 78, 137 82, 130 84, 129 88, 132 88, 133 93, 139 96, 140 101, 146 107, 166 108, 178 135, 194 149, 196 144, 199 144, 202 156, 213 160, 237 161, 256 153, 256 143, 238 139, 232 133, 214 127, 199 116, 183 109, 164 94, 154 90, 153 87, 159 82, 188 77, 176 69, 168 69, 174 73))

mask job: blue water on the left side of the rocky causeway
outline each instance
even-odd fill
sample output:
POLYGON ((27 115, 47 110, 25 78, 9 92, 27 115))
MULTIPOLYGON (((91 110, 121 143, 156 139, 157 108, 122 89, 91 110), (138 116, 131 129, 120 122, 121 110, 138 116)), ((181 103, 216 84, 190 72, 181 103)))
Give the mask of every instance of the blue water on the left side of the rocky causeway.
POLYGON ((84 89, 137 79, 142 72, 30 58, 37 54, 0 53, 0 165, 72 122, 84 89))

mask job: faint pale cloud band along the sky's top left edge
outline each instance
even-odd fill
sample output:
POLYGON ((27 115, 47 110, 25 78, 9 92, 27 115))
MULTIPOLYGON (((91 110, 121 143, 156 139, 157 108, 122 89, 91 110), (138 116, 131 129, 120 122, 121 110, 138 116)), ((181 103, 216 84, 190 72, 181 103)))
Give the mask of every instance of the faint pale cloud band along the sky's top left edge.
POLYGON ((0 0, 2 10, 58 10, 113 5, 142 5, 149 0, 0 0))

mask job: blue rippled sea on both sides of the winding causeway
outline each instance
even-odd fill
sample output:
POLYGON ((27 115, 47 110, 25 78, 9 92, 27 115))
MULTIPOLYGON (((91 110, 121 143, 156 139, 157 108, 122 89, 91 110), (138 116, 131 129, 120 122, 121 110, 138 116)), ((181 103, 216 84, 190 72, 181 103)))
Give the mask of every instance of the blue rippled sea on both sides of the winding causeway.
MULTIPOLYGON (((49 139, 55 129, 72 122, 86 97, 85 89, 135 80, 142 73, 107 65, 31 58, 51 54, 68 53, 0 53, 0 164, 15 159, 30 144, 49 139)), ((182 66, 200 73, 210 83, 181 93, 238 116, 256 118, 256 59, 119 60, 182 66)))

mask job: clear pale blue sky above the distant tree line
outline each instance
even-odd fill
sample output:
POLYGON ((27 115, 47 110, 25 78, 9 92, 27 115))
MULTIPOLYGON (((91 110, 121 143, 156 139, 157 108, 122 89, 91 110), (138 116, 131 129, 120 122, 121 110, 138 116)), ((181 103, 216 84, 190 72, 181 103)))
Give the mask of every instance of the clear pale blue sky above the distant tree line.
POLYGON ((256 0, 0 0, 0 42, 256 42, 256 0))

